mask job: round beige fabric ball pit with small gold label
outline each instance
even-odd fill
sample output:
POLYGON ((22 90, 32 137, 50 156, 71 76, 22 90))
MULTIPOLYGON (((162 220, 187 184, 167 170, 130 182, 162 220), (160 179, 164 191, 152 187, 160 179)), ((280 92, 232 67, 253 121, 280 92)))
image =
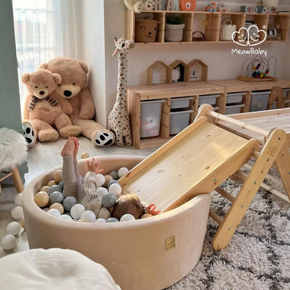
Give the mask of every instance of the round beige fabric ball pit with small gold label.
MULTIPOLYGON (((98 159, 107 174, 119 167, 131 169, 144 158, 116 155, 98 159)), ((33 195, 52 180, 59 168, 36 177, 23 192, 31 249, 77 250, 105 266, 123 290, 163 289, 181 280, 197 264, 206 234, 210 194, 199 195, 172 211, 142 220, 109 224, 59 220, 47 215, 33 201, 33 195)), ((79 171, 85 174, 86 160, 79 160, 79 171)))

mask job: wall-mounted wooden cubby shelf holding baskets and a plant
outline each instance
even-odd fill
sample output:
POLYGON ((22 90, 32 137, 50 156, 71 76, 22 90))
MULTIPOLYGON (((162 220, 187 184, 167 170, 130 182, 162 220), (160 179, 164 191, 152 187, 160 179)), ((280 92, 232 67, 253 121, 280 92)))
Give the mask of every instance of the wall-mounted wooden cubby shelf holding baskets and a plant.
MULTIPOLYGON (((135 40, 135 17, 144 18, 153 15, 153 19, 160 21, 155 43, 138 43, 146 45, 165 44, 165 19, 169 14, 179 14, 183 18, 185 28, 183 29, 183 40, 171 44, 183 43, 232 43, 232 41, 220 41, 220 25, 226 19, 231 19, 239 31, 245 26, 246 21, 254 21, 259 29, 267 30, 268 26, 281 29, 281 40, 270 40, 275 42, 286 42, 289 34, 290 13, 238 13, 238 12, 206 12, 206 11, 167 11, 152 10, 135 13, 134 10, 125 10, 125 38, 135 40), (192 33, 201 31, 206 36, 206 41, 192 41, 192 33)), ((261 34, 261 36, 264 35, 261 34)), ((261 37, 260 36, 260 37, 261 37)))

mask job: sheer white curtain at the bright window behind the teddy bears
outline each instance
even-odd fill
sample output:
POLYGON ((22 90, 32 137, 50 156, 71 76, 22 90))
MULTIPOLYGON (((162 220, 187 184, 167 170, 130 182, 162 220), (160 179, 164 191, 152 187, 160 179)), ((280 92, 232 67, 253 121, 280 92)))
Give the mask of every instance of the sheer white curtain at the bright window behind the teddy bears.
MULTIPOLYGON (((56 56, 82 59, 82 0, 13 0, 19 79, 56 56)), ((20 81, 20 101, 27 91, 20 81)))

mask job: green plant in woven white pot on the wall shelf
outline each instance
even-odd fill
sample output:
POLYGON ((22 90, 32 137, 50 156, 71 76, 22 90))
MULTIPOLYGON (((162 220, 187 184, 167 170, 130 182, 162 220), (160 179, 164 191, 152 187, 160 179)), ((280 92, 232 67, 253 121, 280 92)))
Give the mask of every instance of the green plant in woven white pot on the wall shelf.
POLYGON ((168 15, 165 23, 165 41, 175 43, 183 38, 183 23, 181 15, 168 15))

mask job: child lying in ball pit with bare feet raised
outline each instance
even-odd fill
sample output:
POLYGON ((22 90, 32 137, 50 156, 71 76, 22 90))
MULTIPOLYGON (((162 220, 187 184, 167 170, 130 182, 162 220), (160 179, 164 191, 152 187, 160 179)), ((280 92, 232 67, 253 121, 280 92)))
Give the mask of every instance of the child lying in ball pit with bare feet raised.
POLYGON ((102 206, 102 196, 97 193, 96 174, 100 174, 104 169, 99 169, 100 161, 94 158, 91 162, 87 161, 88 172, 84 177, 82 183, 77 167, 77 152, 79 149, 79 142, 77 137, 69 137, 66 144, 63 146, 61 156, 63 157, 63 197, 76 197, 80 204, 82 204, 87 211, 93 211, 96 218, 116 217, 118 220, 130 213, 139 219, 146 213, 146 207, 141 203, 136 194, 121 195, 116 201, 116 204, 108 210, 102 206))

